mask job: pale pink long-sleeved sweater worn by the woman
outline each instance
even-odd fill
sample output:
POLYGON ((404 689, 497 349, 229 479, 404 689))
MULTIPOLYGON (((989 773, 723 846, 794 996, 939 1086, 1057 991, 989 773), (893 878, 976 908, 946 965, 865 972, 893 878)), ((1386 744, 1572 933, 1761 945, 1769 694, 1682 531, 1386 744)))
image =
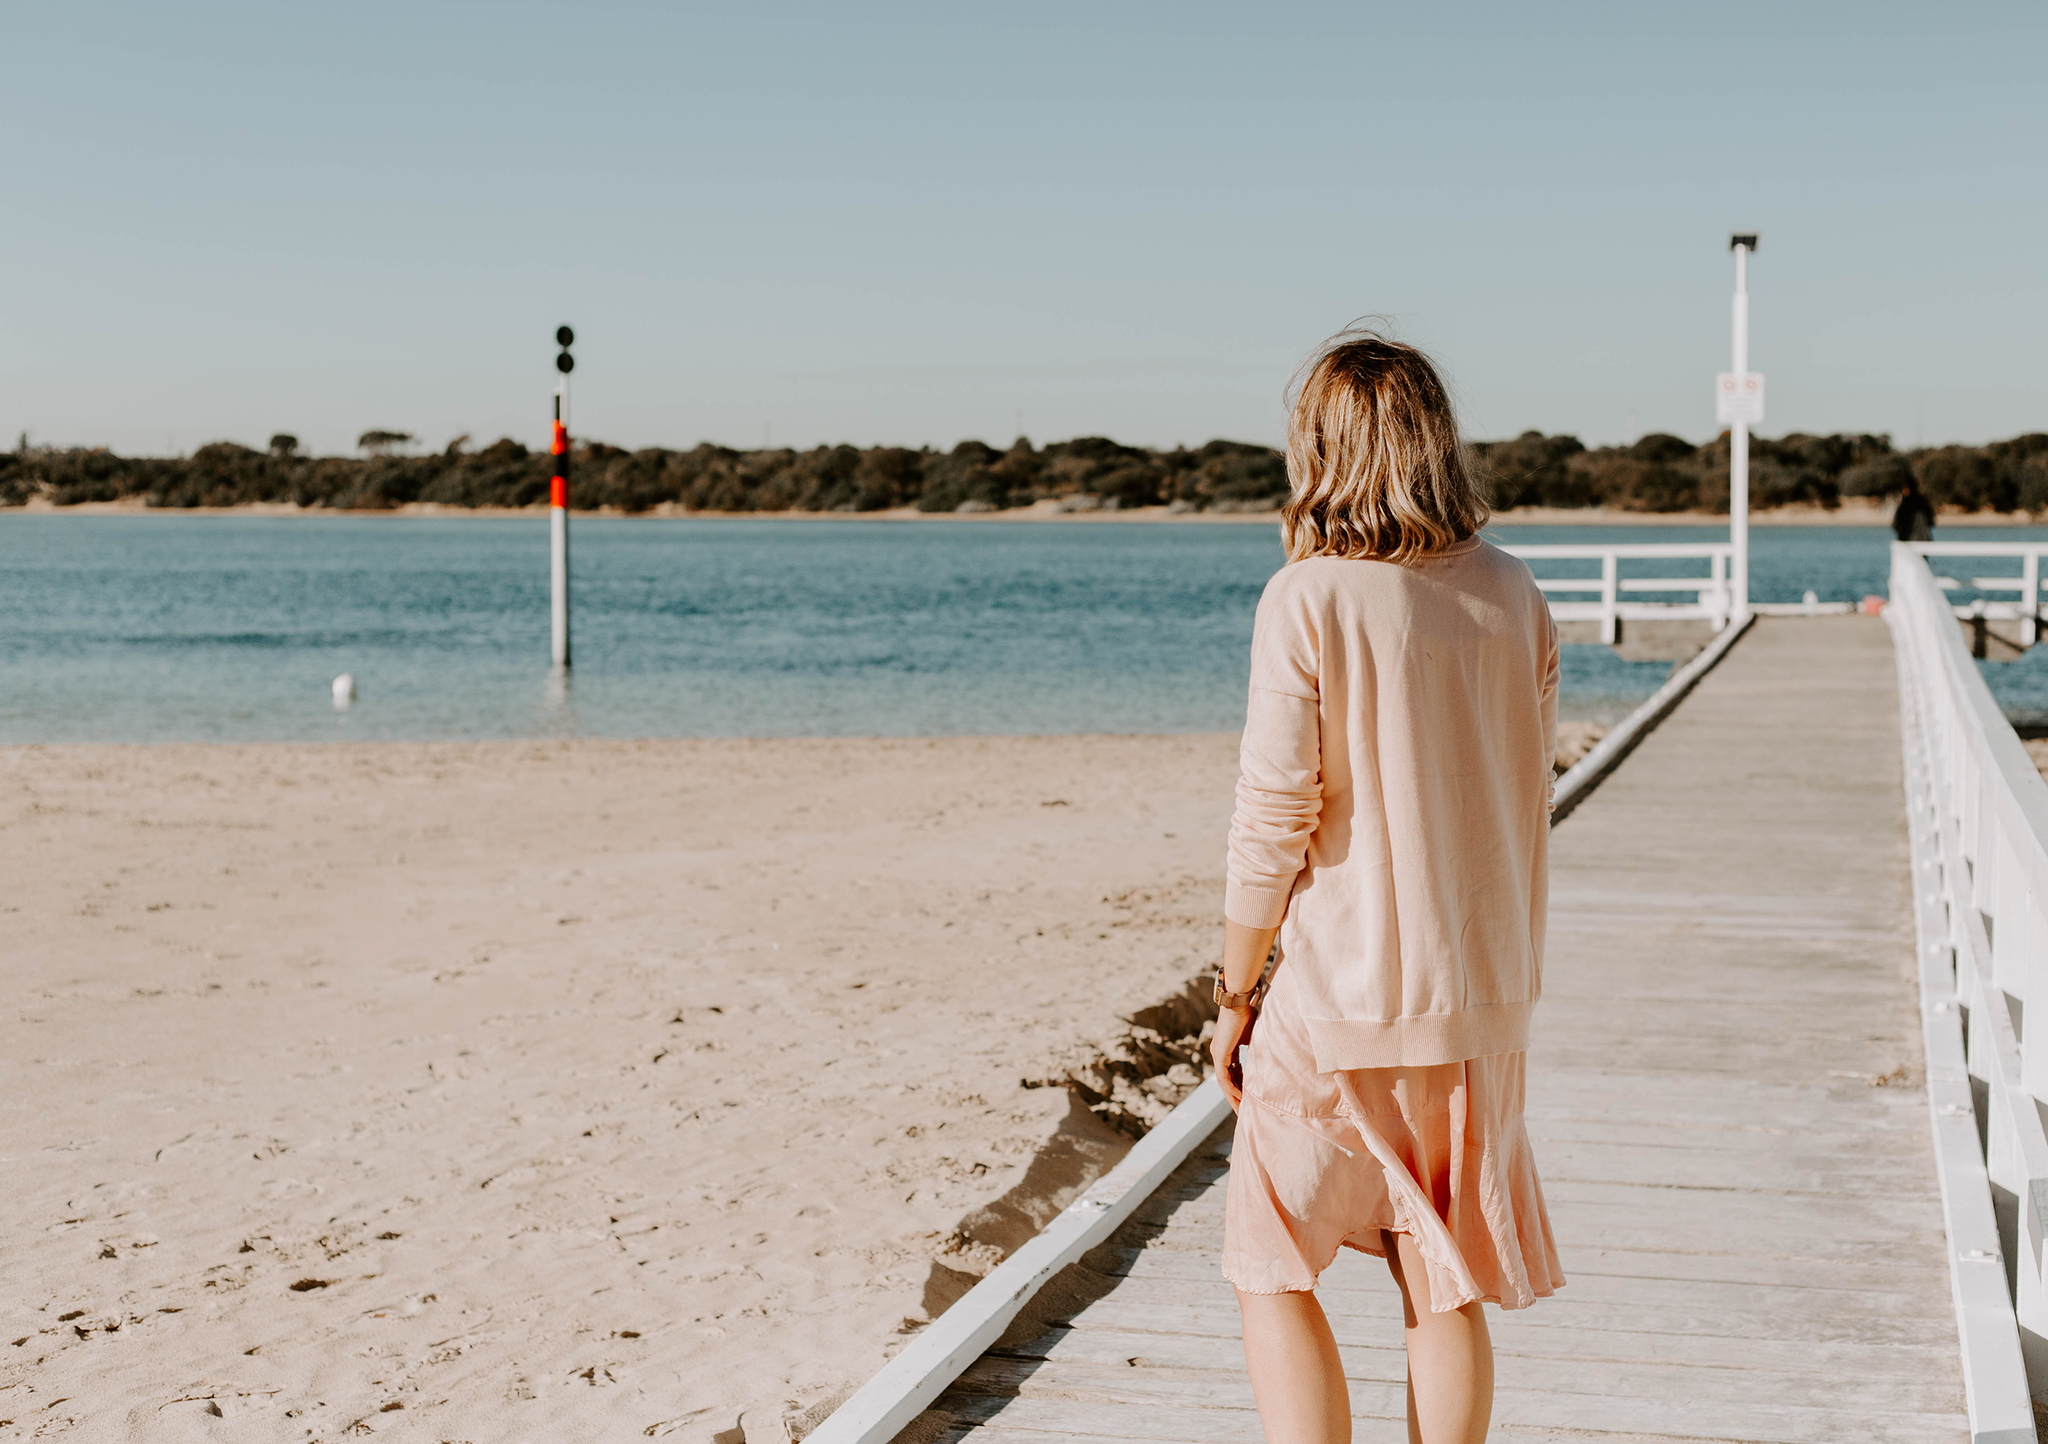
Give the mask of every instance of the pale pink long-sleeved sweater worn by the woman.
POLYGON ((1479 537, 1266 584, 1223 907, 1280 926, 1319 1071, 1528 1047, 1556 662, 1530 569, 1479 537))

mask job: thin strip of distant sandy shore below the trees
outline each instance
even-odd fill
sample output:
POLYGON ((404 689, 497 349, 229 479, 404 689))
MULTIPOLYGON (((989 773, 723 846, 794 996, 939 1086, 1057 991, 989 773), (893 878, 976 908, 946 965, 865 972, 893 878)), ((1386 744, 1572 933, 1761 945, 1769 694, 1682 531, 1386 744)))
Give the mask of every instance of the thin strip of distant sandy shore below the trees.
MULTIPOLYGON (((74 502, 57 506, 47 500, 33 500, 27 506, 0 506, 6 516, 346 516, 346 518, 496 518, 496 520, 537 520, 547 516, 545 506, 449 506, 444 502, 408 502, 403 506, 379 510, 342 510, 332 506, 293 506, 291 502, 248 502, 244 506, 145 506, 141 498, 119 502, 74 502)), ((618 508, 596 508, 573 512, 578 518, 606 520, 756 520, 756 522, 1163 522, 1194 526, 1276 526, 1278 512, 1176 512, 1167 506, 1133 506, 1122 510, 1061 510, 1057 502, 1034 502, 995 512, 920 512, 913 506, 895 506, 881 512, 692 512, 674 504, 651 506, 645 512, 625 512, 618 508)), ((1890 502, 1866 502, 1845 498, 1841 506, 1827 510, 1812 504, 1774 506, 1749 514, 1751 526, 1888 526, 1892 520, 1890 502)), ((1495 526, 1726 526, 1729 518, 1716 512, 1624 512, 1606 506, 1522 506, 1511 512, 1495 512, 1495 526)), ((1960 512, 1944 510, 1939 526, 2040 526, 2048 518, 2036 520, 2028 512, 1960 512)))

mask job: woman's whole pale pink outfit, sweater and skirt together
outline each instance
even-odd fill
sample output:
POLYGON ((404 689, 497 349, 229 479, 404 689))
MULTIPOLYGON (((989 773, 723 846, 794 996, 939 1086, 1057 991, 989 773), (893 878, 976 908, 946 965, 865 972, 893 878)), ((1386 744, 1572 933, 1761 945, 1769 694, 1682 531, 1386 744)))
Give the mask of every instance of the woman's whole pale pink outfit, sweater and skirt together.
POLYGON ((1542 995, 1556 625, 1473 537, 1266 586, 1225 914, 1280 928, 1245 1065, 1223 1272, 1313 1288, 1407 1233, 1427 1305, 1565 1282, 1522 1127, 1542 995))

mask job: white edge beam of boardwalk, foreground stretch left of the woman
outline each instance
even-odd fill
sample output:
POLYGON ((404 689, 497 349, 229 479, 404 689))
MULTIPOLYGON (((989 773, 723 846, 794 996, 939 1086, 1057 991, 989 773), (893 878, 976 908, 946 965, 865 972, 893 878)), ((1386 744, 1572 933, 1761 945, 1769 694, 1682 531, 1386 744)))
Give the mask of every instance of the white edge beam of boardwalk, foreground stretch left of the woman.
POLYGON ((1059 1270, 1108 1239, 1231 1116, 1206 1079, 1016 1254, 969 1288, 874 1378, 805 1436, 805 1444, 889 1444, 1010 1327, 1059 1270))

